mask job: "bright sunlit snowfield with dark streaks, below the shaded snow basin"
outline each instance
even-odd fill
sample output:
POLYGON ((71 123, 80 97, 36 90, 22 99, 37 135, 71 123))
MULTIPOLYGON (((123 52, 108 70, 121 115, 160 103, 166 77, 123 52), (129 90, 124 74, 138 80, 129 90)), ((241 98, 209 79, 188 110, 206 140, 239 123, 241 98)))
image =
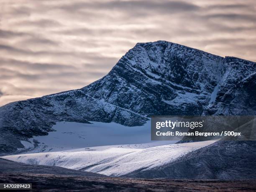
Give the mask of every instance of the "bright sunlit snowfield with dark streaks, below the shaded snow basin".
POLYGON ((180 156, 214 142, 202 141, 161 146, 154 146, 153 143, 154 147, 150 143, 98 146, 3 156, 3 158, 26 164, 61 166, 110 176, 122 176, 137 170, 150 170, 168 164, 180 156))

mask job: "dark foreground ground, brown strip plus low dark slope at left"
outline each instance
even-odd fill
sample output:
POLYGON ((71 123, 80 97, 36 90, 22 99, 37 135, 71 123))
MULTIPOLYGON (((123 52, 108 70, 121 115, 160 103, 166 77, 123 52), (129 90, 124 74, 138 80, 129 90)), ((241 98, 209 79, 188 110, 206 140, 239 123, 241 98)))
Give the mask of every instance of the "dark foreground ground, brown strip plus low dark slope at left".
MULTIPOLYGON (((28 165, 0 158, 0 183, 32 183, 33 191, 228 191, 255 192, 256 180, 128 179, 65 169, 28 165)), ((24 190, 23 190, 24 191, 24 190)), ((28 190, 26 190, 28 191, 28 190)))

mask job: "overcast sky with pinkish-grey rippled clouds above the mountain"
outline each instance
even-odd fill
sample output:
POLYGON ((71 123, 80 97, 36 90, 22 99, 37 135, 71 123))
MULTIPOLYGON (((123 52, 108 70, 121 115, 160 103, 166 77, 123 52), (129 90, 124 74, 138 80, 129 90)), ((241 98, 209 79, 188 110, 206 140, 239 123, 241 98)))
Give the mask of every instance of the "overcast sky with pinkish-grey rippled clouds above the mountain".
POLYGON ((0 105, 84 87, 137 42, 256 61, 256 0, 0 2, 0 105))

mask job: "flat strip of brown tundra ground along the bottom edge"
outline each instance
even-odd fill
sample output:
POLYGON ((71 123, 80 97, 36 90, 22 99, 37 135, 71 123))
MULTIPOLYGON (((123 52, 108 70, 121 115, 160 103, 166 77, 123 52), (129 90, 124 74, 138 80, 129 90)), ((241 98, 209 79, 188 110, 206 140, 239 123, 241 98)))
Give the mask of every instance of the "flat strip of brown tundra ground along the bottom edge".
MULTIPOLYGON (((0 183, 32 183, 33 191, 255 192, 256 180, 171 180, 2 173, 0 183)), ((23 190, 24 191, 24 190, 23 190)), ((26 190, 28 191, 28 190, 26 190)))

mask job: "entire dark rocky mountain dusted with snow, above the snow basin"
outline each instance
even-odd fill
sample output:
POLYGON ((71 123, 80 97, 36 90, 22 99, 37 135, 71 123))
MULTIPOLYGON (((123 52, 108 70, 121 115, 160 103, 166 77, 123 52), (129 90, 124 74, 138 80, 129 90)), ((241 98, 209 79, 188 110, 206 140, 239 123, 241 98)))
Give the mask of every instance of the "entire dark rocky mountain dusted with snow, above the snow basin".
POLYGON ((59 121, 143 125, 151 115, 255 115, 256 63, 166 41, 139 43, 79 90, 0 108, 0 152, 59 121))

